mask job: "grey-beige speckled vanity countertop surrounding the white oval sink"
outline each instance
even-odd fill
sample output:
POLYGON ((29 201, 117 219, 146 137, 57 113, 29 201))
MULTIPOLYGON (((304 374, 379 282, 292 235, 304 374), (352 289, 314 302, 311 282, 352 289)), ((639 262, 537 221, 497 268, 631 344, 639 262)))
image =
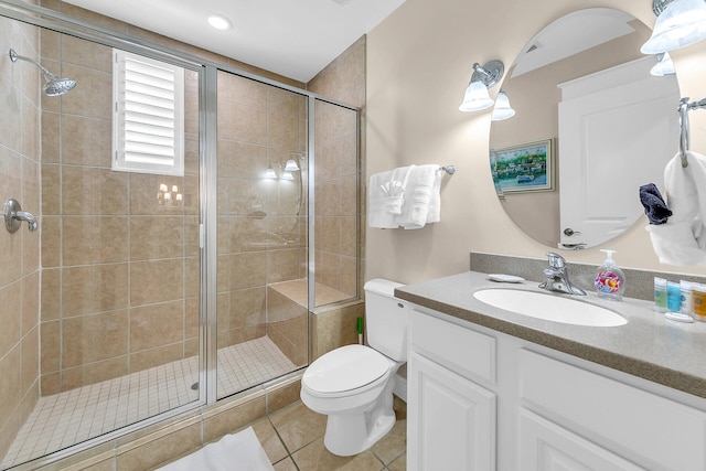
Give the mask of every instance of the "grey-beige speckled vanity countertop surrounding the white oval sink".
POLYGON ((584 327, 545 321, 485 304, 473 297, 480 289, 541 291, 536 281, 501 283, 486 274, 467 271, 407 285, 395 290, 399 299, 448 315, 524 339, 644 379, 706 398, 706 322, 683 323, 664 318, 649 301, 622 302, 596 293, 573 297, 620 313, 619 327, 584 327))

